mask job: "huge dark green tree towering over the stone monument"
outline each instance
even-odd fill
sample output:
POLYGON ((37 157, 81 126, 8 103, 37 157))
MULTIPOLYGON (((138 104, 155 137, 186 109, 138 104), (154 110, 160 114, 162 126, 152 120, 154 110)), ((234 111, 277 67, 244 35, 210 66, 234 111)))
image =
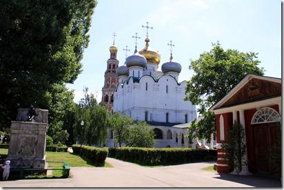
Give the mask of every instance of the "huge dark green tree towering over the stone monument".
MULTIPOLYGON (((81 60, 88 46, 87 32, 96 3, 94 0, 1 1, 1 129, 15 120, 17 108, 30 104, 48 108, 49 121, 57 120, 50 104, 55 94, 50 91, 57 85, 73 83, 82 72, 81 60)), ((50 135, 55 131, 50 131, 50 135)))

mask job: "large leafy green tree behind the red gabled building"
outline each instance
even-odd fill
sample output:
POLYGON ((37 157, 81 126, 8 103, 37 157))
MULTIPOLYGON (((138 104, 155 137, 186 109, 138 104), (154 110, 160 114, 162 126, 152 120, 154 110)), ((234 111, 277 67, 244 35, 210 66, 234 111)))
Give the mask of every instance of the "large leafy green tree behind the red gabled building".
POLYGON ((187 82, 185 99, 200 106, 202 116, 199 122, 191 123, 191 133, 199 138, 214 132, 215 117, 207 109, 222 99, 234 86, 249 74, 263 75, 263 68, 258 68, 257 53, 242 53, 238 50, 224 50, 219 42, 212 44, 209 52, 204 52, 199 59, 191 61, 193 76, 187 82), (200 127, 202 126, 202 127, 200 127), (207 134, 208 133, 208 134, 207 134))

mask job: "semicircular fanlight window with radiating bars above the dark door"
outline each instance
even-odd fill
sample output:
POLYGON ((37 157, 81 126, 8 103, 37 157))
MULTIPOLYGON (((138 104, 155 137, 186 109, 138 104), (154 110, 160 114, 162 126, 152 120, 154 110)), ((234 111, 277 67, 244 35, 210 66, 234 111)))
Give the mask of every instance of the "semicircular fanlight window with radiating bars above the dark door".
POLYGON ((277 111, 272 108, 261 108, 258 110, 254 117, 252 117, 252 124, 280 122, 281 117, 277 111))

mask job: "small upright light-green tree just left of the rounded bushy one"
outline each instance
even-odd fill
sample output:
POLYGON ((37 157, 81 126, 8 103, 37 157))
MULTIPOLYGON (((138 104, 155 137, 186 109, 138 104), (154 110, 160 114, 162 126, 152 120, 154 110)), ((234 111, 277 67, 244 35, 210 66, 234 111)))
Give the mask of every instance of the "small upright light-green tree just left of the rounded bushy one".
POLYGON ((132 122, 131 117, 122 115, 120 112, 113 114, 108 120, 108 126, 114 133, 115 142, 118 142, 120 147, 122 146, 122 142, 125 143, 128 139, 132 122))

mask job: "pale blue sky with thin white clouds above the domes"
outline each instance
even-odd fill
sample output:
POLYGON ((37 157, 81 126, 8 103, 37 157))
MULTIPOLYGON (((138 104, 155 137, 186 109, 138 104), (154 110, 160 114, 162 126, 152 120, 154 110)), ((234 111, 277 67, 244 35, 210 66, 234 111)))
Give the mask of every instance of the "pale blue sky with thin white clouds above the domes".
POLYGON ((167 44, 170 40, 175 44, 173 58, 182 65, 180 81, 193 75, 188 69, 190 59, 198 59, 201 53, 211 50, 211 42, 217 40, 225 49, 259 53, 265 75, 281 77, 281 1, 98 0, 82 74, 74 84, 67 84, 75 90, 75 102, 83 97, 84 86, 100 102, 113 32, 117 34, 117 59, 122 65, 122 49, 129 46, 133 53, 135 32, 141 37, 138 50, 144 47, 146 30, 141 26, 146 21, 153 26, 149 30, 150 46, 159 51, 162 59, 158 70, 169 60, 167 44))

